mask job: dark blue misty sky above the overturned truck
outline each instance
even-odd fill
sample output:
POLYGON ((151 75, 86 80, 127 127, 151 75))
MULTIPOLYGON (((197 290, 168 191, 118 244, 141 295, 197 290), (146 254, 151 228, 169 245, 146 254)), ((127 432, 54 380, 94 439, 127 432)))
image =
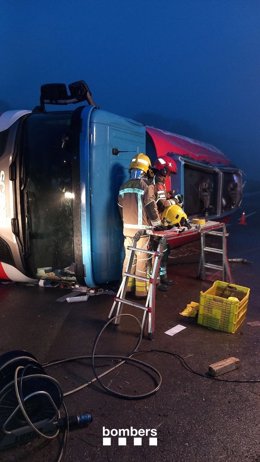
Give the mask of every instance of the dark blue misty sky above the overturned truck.
POLYGON ((85 80, 102 108, 260 173, 260 0, 0 0, 0 112, 85 80))

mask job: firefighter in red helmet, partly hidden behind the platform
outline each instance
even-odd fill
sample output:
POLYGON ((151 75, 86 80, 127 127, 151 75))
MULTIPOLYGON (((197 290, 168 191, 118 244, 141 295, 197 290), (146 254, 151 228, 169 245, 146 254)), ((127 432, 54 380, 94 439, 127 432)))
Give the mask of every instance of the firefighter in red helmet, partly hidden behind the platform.
MULTIPOLYGON (((155 196, 156 196, 156 203, 162 217, 162 213, 165 209, 167 209, 172 204, 176 203, 176 200, 173 199, 174 191, 167 192, 166 190, 166 179, 172 173, 176 173, 177 167, 174 162, 169 156, 159 157, 153 167, 154 171, 154 185, 155 185, 155 196)), ((156 245, 156 240, 154 242, 156 245)), ((158 285, 158 289, 162 291, 167 291, 169 286, 171 286, 174 282, 167 277, 167 263, 170 254, 170 247, 165 240, 165 248, 163 252, 163 257, 161 260, 160 266, 160 284, 158 285)))

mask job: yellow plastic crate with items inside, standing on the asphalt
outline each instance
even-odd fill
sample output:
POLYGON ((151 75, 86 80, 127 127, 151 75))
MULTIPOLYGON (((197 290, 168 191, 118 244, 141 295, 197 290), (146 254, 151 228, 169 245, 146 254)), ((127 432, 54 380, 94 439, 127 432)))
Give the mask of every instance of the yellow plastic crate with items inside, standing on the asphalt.
POLYGON ((234 334, 246 317, 249 294, 248 287, 215 281, 200 292, 198 324, 234 334))

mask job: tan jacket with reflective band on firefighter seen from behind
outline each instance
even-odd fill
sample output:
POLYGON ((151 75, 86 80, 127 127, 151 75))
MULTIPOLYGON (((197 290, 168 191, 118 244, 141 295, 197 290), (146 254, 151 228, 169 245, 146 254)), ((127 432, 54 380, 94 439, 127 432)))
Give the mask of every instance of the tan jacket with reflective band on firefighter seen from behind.
POLYGON ((123 220, 124 236, 161 225, 154 185, 145 178, 130 179, 119 190, 118 205, 123 220))

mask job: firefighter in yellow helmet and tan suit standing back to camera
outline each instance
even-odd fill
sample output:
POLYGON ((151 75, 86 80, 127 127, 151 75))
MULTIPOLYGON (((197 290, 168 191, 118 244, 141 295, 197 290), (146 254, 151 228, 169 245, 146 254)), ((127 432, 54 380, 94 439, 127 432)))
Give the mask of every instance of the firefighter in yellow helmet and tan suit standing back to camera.
MULTIPOLYGON (((130 179, 119 190, 118 205, 123 221, 123 234, 125 238, 123 272, 126 270, 129 258, 130 251, 128 250, 128 246, 133 245, 135 234, 138 231, 143 233, 137 246, 142 249, 148 249, 150 238, 145 234, 145 231, 153 228, 158 229, 158 227, 162 229, 154 195, 154 185, 149 179, 150 170, 151 161, 149 157, 144 153, 137 154, 130 163, 130 179)), ((147 277, 148 262, 148 254, 136 252, 132 273, 136 276, 147 277)), ((146 297, 148 293, 147 282, 129 277, 127 292, 134 292, 136 297, 146 297)))

